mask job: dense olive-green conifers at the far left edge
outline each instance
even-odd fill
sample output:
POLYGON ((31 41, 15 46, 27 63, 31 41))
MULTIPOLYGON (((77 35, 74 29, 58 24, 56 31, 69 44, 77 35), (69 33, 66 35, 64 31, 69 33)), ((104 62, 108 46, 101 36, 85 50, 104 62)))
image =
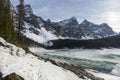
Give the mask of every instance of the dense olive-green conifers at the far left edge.
POLYGON ((10 0, 0 0, 0 36, 9 42, 16 42, 10 0))

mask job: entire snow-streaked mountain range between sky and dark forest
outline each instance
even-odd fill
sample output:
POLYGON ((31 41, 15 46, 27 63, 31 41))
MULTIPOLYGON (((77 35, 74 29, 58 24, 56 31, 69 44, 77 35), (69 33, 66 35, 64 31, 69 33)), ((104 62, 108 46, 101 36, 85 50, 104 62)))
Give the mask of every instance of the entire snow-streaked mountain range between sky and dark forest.
POLYGON ((35 15, 30 5, 25 4, 24 10, 23 34, 39 43, 61 38, 79 40, 99 39, 116 34, 106 23, 98 25, 84 20, 79 24, 75 17, 52 22, 50 19, 44 20, 42 17, 35 15))

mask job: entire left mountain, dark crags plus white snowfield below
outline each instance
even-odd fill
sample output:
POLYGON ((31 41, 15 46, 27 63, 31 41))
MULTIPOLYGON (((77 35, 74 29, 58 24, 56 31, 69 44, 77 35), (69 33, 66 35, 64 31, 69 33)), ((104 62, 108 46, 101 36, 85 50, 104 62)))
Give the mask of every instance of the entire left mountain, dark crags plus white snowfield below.
MULTIPOLYGON (((49 40, 58 39, 56 35, 52 34, 51 32, 48 32, 43 27, 45 24, 44 19, 34 14, 31 5, 25 4, 24 9, 25 9, 25 16, 23 18, 24 24, 22 25, 23 29, 21 30, 21 33, 23 33, 23 35, 40 44, 43 44, 44 42, 47 42, 49 40)), ((15 28, 17 30, 19 29, 18 15, 15 15, 14 18, 15 18, 14 23, 16 26, 15 28)))

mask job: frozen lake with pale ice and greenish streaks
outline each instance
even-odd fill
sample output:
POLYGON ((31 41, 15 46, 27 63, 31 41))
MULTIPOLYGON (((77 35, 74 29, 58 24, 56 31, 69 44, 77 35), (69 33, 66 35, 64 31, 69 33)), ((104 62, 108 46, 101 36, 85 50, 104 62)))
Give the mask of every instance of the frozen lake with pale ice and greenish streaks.
POLYGON ((120 76, 120 49, 39 50, 45 58, 120 76))

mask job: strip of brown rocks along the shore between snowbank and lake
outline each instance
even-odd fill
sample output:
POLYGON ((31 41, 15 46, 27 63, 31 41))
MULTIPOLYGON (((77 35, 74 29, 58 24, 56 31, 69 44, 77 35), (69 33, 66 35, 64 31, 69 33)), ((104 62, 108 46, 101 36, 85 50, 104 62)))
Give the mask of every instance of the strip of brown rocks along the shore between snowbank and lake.
POLYGON ((54 60, 50 60, 49 58, 47 58, 47 59, 42 58, 42 59, 44 59, 45 62, 50 61, 52 64, 54 64, 56 66, 62 67, 66 70, 69 70, 69 71, 75 73, 79 78, 82 78, 82 79, 87 78, 87 79, 91 79, 91 80, 104 80, 103 78, 95 77, 91 73, 86 72, 85 69, 81 66, 75 66, 75 65, 72 65, 72 64, 56 62, 54 60))

